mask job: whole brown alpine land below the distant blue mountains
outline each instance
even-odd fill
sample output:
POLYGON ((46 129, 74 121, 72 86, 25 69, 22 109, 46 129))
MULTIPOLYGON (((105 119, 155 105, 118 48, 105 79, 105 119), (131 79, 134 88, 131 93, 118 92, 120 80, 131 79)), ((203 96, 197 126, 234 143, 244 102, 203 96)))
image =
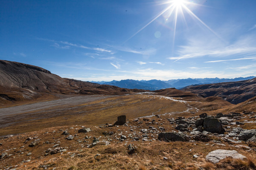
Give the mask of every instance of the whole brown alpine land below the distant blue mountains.
POLYGON ((0 170, 256 168, 255 78, 148 91, 9 61, 0 74, 0 170))

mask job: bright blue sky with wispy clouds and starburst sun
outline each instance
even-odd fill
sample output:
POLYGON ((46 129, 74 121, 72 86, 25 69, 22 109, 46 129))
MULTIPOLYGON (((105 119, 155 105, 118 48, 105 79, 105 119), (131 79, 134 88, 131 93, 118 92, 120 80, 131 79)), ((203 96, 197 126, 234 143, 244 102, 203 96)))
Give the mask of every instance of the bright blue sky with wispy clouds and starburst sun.
POLYGON ((0 59, 83 81, 256 76, 256 0, 0 0, 0 59))

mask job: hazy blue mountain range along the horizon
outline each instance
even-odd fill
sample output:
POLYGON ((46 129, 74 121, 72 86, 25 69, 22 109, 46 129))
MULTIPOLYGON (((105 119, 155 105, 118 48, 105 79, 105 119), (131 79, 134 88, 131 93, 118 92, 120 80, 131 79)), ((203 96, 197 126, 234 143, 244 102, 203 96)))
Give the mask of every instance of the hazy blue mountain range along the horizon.
POLYGON ((236 82, 236 81, 242 81, 242 80, 248 80, 253 79, 254 76, 250 77, 237 77, 234 79, 220 79, 220 78, 188 78, 188 79, 170 79, 167 81, 152 79, 152 80, 133 80, 133 79, 124 79, 121 81, 113 80, 111 82, 94 82, 101 85, 114 85, 119 88, 129 88, 129 89, 144 89, 144 90, 160 90, 165 88, 184 88, 189 85, 204 85, 204 84, 212 84, 212 83, 219 83, 219 82, 236 82))

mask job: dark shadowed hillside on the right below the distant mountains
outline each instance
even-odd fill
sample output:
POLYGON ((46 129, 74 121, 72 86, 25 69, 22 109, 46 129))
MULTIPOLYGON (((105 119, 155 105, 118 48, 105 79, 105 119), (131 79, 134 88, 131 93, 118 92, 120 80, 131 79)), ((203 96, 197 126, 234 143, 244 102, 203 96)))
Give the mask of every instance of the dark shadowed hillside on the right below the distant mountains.
POLYGON ((239 82, 221 82, 183 88, 182 91, 203 97, 218 96, 232 104, 244 102, 256 96, 256 78, 239 82))

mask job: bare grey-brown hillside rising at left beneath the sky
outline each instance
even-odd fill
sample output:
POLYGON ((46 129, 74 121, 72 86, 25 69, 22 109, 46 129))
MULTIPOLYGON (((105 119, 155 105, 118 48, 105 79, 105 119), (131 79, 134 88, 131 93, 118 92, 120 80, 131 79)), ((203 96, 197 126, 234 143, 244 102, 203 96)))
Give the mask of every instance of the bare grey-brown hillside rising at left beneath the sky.
POLYGON ((34 65, 0 60, 0 101, 37 99, 51 94, 129 94, 140 92, 61 78, 34 65))

